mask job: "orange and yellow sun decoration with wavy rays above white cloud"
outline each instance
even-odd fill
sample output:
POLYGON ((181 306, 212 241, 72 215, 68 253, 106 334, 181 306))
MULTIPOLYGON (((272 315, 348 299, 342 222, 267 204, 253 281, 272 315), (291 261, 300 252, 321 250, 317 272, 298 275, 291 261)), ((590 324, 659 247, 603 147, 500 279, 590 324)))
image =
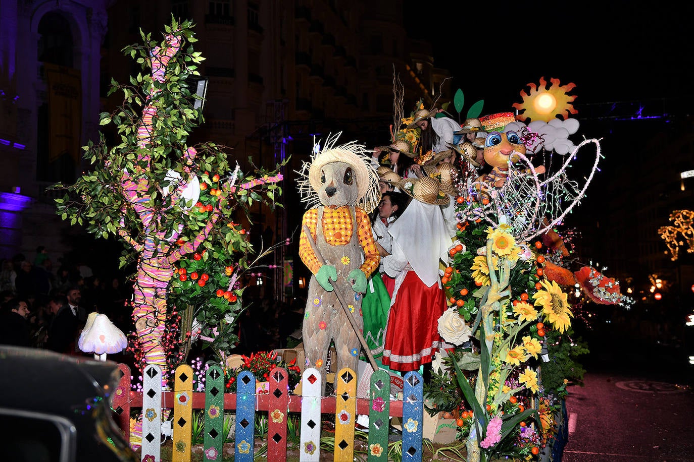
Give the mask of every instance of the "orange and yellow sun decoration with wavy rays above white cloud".
POLYGON ((540 78, 540 85, 536 86, 530 82, 530 94, 521 91, 523 103, 514 103, 513 107, 523 111, 516 116, 519 121, 530 118, 532 121, 549 122, 557 116, 568 118, 569 114, 577 114, 578 111, 570 103, 576 99, 575 95, 569 96, 567 93, 576 86, 574 83, 559 85, 559 79, 550 78, 552 86, 547 89, 547 82, 544 77, 540 78))

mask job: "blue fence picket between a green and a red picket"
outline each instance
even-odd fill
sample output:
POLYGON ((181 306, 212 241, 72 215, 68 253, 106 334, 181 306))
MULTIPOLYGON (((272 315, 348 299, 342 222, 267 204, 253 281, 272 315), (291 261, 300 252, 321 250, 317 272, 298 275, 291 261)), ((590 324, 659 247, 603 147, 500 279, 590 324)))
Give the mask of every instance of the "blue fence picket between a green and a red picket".
POLYGON ((244 371, 236 382, 236 441, 237 462, 253 462, 255 435, 255 377, 244 371))

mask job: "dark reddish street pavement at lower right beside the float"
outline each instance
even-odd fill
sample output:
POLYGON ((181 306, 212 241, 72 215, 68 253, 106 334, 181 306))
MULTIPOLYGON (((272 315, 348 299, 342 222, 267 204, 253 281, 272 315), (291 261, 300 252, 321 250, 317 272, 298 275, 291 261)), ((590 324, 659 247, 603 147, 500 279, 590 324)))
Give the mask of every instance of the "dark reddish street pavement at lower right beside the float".
POLYGON ((694 461, 694 365, 682 348, 632 348, 607 348, 569 387, 562 461, 694 461))

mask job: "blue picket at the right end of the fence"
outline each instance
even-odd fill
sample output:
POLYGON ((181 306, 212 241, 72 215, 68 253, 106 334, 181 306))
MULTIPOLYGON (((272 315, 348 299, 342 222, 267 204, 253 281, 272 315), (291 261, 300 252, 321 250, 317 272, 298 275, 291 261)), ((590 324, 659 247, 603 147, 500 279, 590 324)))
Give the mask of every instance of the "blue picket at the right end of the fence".
POLYGON ((416 371, 405 374, 403 387, 403 461, 421 462, 423 381, 416 371))

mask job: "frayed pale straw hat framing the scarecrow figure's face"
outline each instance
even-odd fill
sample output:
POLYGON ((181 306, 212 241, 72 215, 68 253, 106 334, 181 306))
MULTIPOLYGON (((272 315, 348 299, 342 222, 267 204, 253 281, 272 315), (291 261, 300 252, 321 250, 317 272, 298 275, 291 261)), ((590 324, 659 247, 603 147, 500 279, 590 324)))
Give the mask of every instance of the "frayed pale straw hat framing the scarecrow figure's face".
POLYGON ((300 171, 297 171, 299 179, 299 195, 302 202, 307 203, 307 208, 313 208, 321 203, 318 190, 321 189, 321 167, 330 162, 348 163, 354 170, 355 180, 358 187, 358 199, 355 204, 363 208, 367 213, 371 213, 380 199, 380 189, 378 188, 378 174, 371 166, 371 151, 367 151, 364 145, 357 141, 352 141, 344 145, 337 146, 337 139, 342 132, 334 136, 328 135, 325 145, 321 150, 320 142, 314 148, 311 160, 304 162, 300 171))

